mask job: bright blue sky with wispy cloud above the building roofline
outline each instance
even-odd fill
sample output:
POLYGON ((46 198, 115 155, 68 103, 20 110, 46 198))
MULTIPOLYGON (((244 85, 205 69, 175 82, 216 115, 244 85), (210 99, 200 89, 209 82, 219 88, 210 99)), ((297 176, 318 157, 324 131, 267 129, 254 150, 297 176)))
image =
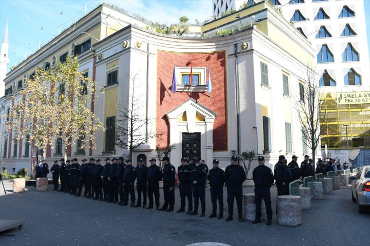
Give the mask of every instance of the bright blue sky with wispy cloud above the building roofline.
MULTIPOLYGON (((9 67, 22 61, 24 54, 35 52, 39 42, 41 46, 47 43, 53 37, 49 32, 57 35, 59 26, 61 30, 70 26, 73 21, 66 15, 79 19, 85 6, 89 12, 101 2, 113 3, 128 12, 166 24, 177 22, 181 15, 189 17, 190 23, 195 23, 195 18, 202 22, 212 15, 211 0, 0 0, 0 42, 6 18, 9 18, 9 67), (66 15, 60 14, 61 11, 66 15), (41 27, 44 29, 40 30, 41 27)), ((364 0, 364 8, 370 47, 370 0, 364 0)))

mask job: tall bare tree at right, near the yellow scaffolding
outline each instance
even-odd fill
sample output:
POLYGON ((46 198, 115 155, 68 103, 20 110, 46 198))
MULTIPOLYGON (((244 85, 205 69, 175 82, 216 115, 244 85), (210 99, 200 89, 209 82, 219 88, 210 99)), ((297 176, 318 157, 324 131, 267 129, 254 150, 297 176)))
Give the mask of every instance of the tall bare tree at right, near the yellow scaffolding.
POLYGON ((315 165, 316 149, 320 137, 325 129, 320 128, 326 122, 326 113, 321 110, 322 101, 319 101, 320 87, 317 73, 308 64, 306 65, 304 81, 299 83, 299 100, 295 101, 294 108, 298 112, 299 126, 303 143, 311 150, 313 168, 315 165))

